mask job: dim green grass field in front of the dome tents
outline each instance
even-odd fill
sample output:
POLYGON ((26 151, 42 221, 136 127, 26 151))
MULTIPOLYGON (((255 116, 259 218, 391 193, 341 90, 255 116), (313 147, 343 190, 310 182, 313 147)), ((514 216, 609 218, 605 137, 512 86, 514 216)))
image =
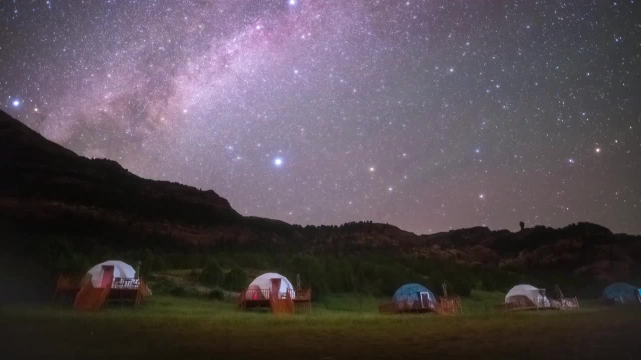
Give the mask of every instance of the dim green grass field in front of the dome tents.
POLYGON ((162 297, 101 313, 0 309, 3 359, 639 359, 640 332, 639 309, 272 316, 162 297))

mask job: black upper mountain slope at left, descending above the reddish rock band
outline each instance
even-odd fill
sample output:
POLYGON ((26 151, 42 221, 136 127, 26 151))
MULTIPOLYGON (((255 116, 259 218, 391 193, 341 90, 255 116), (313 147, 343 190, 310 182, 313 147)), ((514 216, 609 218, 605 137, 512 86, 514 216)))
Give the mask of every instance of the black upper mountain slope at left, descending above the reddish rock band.
POLYGON ((226 199, 211 190, 143 179, 115 161, 78 156, 2 111, 0 138, 0 194, 5 202, 19 199, 29 206, 83 206, 129 218, 186 224, 240 217, 226 199))

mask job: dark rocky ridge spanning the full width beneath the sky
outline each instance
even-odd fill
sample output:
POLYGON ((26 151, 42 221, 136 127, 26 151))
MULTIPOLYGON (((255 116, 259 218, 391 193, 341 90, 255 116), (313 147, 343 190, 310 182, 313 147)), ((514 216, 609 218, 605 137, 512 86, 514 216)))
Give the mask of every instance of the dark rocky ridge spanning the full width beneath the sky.
POLYGON ((2 245, 65 236, 117 247, 336 254, 385 249, 513 270, 562 270, 604 281, 636 276, 641 267, 641 236, 613 234, 595 224, 535 226, 517 233, 472 227, 429 235, 371 222, 302 227, 242 217, 212 190, 143 179, 115 161, 78 156, 2 111, 0 139, 2 245))

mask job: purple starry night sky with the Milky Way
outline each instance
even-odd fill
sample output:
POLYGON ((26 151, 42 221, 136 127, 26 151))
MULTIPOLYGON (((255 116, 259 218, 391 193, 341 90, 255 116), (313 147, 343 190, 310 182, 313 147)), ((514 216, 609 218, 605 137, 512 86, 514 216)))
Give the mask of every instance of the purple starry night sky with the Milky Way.
POLYGON ((0 107, 243 215, 641 233, 633 0, 3 0, 0 107))

